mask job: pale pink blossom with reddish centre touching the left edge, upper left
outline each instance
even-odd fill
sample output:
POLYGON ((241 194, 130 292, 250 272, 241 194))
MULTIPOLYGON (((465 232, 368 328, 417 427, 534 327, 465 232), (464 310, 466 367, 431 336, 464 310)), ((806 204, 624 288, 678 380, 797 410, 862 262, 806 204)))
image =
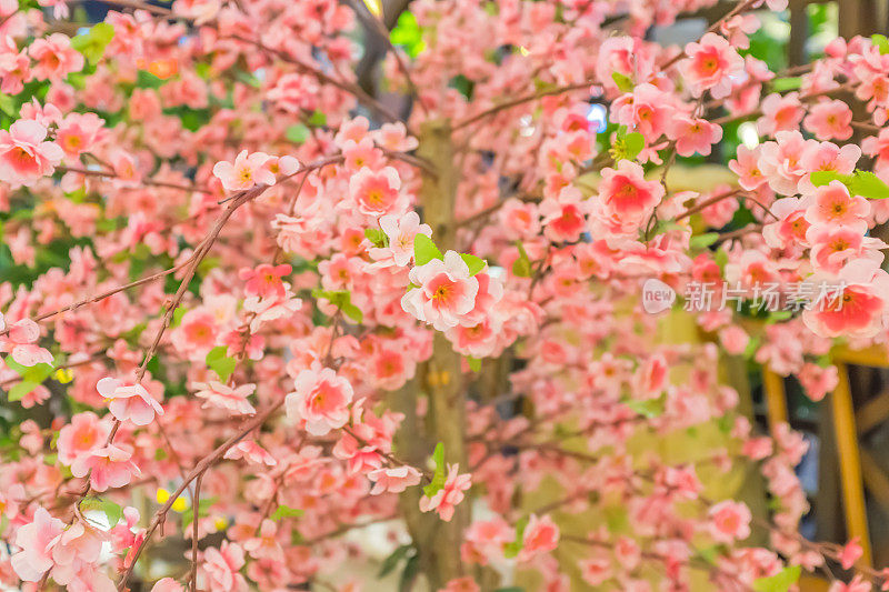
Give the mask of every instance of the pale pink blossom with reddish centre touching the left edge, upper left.
POLYGON ((46 138, 47 128, 29 119, 16 121, 9 131, 0 130, 0 181, 30 185, 52 174, 64 152, 46 138))

